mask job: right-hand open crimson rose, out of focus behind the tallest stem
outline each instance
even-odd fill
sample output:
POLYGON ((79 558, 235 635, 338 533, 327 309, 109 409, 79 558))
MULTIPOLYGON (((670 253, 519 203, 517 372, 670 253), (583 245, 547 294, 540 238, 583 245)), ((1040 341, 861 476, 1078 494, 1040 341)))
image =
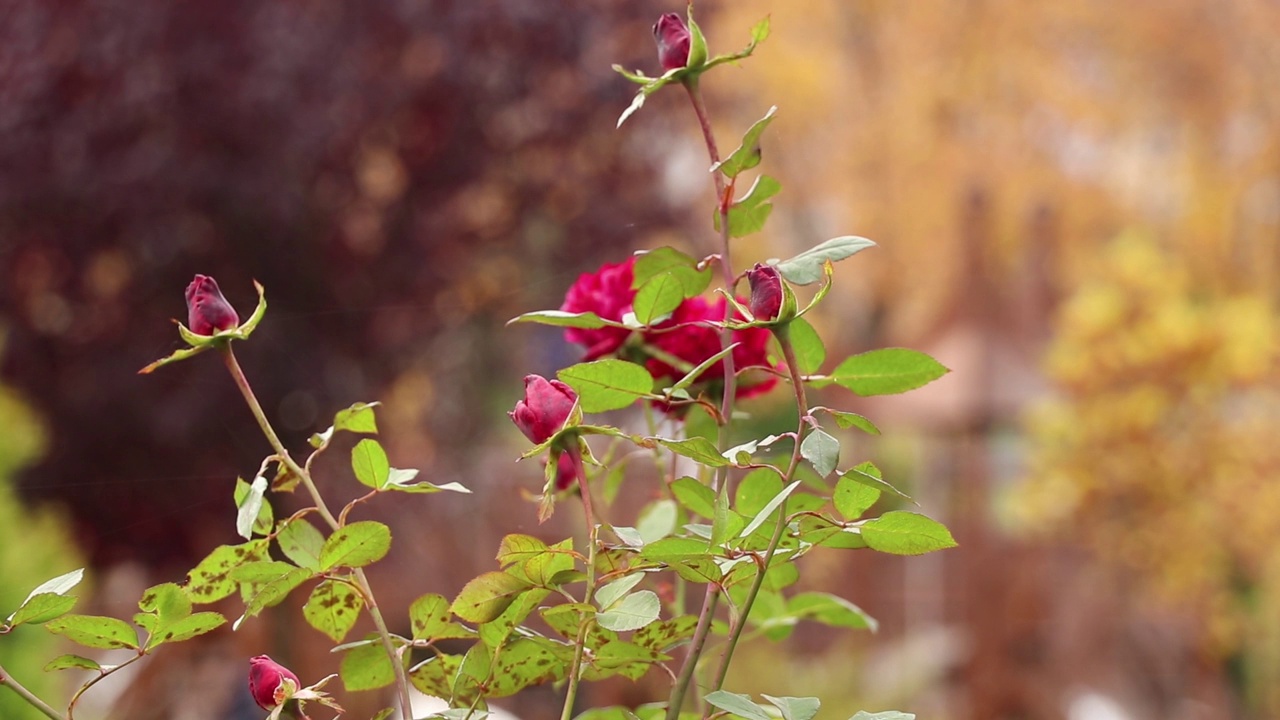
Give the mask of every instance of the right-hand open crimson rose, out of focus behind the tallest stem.
MULTIPOLYGON (((721 322, 724 319, 723 297, 716 301, 707 301, 703 297, 692 297, 676 307, 671 320, 662 324, 662 328, 684 325, 667 332, 654 332, 645 337, 645 342, 675 355, 690 365, 699 365, 712 355, 721 351, 719 331, 700 323, 721 322)), ((733 331, 733 342, 740 343, 733 348, 735 369, 741 372, 745 368, 768 368, 769 331, 765 328, 748 328, 733 331)), ((650 359, 646 364, 649 373, 655 378, 682 378, 685 374, 671 365, 650 359)), ((717 363, 707 369, 699 380, 723 380, 724 363, 717 363)), ((740 386, 739 397, 751 397, 768 392, 777 384, 778 378, 767 375, 760 382, 750 386, 740 386)))

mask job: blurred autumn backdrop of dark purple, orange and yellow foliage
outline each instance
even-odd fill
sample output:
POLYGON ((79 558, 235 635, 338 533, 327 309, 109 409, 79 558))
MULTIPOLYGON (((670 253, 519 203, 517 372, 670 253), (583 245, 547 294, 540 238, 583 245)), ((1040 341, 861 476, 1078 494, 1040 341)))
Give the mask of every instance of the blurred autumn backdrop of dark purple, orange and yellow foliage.
MULTIPOLYGON (((178 346, 195 273, 242 315, 241 363, 285 442, 381 400, 397 466, 472 496, 371 510, 392 616, 548 539, 504 418, 579 273, 712 249, 681 92, 614 129, 677 4, 572 0, 9 0, 0 5, 0 609, 91 568, 81 611, 128 618, 234 542, 230 489, 269 452, 209 357, 178 346), (513 488, 517 488, 513 491, 513 488)), ((961 547, 815 553, 805 585, 881 620, 753 646, 731 685, 824 712, 942 720, 1280 717, 1280 5, 1271 0, 707 0, 722 147, 771 105, 783 192, 739 266, 837 234, 828 357, 886 345, 952 373, 847 436, 961 547)), ((836 393, 841 392, 835 388, 836 393)), ((753 406, 782 414, 785 398, 753 406)), ((326 491, 355 493, 340 454, 326 491)), ((282 503, 288 507, 292 500, 282 503)), ((257 717, 247 657, 337 667, 292 606, 166 648, 86 717, 257 717)), ((233 606, 223 609, 237 615, 233 606)), ((5 611, 8 612, 8 610, 5 611)), ((47 698, 42 630, 0 665, 47 698)), ((662 696, 662 679, 593 702, 662 696)), ((369 696, 370 693, 365 693, 369 696)), ((387 705, 343 697, 355 716, 387 705)), ((550 691, 518 703, 554 716, 550 691)), ((35 717, 0 691, 0 716, 35 717)), ((826 715, 824 715, 826 716, 826 715)))

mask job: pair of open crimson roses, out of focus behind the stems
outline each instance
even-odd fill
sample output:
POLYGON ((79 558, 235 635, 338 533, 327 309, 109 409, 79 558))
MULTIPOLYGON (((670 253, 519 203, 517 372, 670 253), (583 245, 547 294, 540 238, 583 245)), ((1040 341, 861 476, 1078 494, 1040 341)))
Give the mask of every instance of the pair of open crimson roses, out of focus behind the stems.
MULTIPOLYGON (((636 291, 632 288, 635 258, 625 263, 607 264, 595 273, 584 273, 564 295, 561 310, 566 313, 595 313, 604 320, 622 322, 631 311, 636 291)), ((598 329, 568 328, 564 340, 586 348, 586 360, 605 355, 627 355, 644 363, 655 378, 678 379, 686 369, 672 366, 671 359, 687 363, 690 368, 699 365, 721 351, 719 331, 714 323, 724 320, 726 300, 723 297, 708 301, 704 297, 691 297, 676 307, 671 318, 643 333, 632 333, 625 328, 604 327, 598 329), (635 336, 635 338, 632 337, 635 336)), ((774 311, 776 313, 776 311, 774 311)), ((740 320, 745 319, 739 316, 740 320)), ((769 331, 746 328, 733 332, 733 365, 737 370, 745 368, 772 368, 768 359, 769 331)), ((763 377, 753 374, 754 382, 739 387, 739 397, 751 397, 769 391, 777 384, 773 374, 763 377)), ((716 363, 707 369, 699 382, 724 379, 724 364, 716 363)))

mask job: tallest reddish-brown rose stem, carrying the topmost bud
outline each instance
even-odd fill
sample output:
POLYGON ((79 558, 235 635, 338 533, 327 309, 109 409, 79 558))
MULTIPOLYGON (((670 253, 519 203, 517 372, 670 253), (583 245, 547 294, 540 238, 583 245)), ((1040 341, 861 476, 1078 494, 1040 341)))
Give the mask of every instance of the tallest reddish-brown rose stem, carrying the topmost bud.
MULTIPOLYGON (((716 147, 716 133, 712 132, 710 115, 707 114, 707 105, 703 102, 703 94, 698 86, 698 78, 692 77, 685 81, 685 90, 689 92, 689 101, 694 106, 694 114, 698 115, 698 126, 703 131, 703 141, 707 143, 707 155, 710 158, 712 165, 719 163, 719 149, 716 147)), ((712 181, 716 184, 716 211, 719 215, 721 227, 721 278, 724 283, 724 292, 733 293, 733 286, 736 284, 733 277, 733 263, 730 255, 730 236, 728 236, 728 205, 732 197, 727 195, 724 186, 724 176, 716 170, 712 173, 712 181)), ((728 302, 724 304, 724 320, 733 319, 733 306, 728 302)), ((733 342, 733 331, 724 327, 721 329, 721 347, 728 347, 733 342)), ((716 447, 724 452, 728 448, 730 442, 730 429, 733 424, 733 398, 737 395, 737 372, 733 366, 733 354, 730 352, 722 360, 724 365, 724 389, 721 397, 721 429, 718 442, 716 447)), ((719 489, 726 482, 728 482, 728 466, 717 468, 714 479, 712 480, 712 489, 719 489)), ((694 629, 694 637, 689 643, 689 653, 685 656, 685 665, 680 669, 680 676, 676 679, 676 685, 671 689, 671 698, 667 701, 667 720, 677 720, 680 717, 680 708, 685 705, 685 696, 689 692, 689 685, 692 683, 694 675, 698 671, 698 660, 701 657, 703 647, 707 644, 707 634, 712 628, 712 619, 716 615, 716 606, 719 602, 719 585, 712 583, 707 585, 707 594, 703 597, 703 610, 698 615, 698 626, 694 629)))

